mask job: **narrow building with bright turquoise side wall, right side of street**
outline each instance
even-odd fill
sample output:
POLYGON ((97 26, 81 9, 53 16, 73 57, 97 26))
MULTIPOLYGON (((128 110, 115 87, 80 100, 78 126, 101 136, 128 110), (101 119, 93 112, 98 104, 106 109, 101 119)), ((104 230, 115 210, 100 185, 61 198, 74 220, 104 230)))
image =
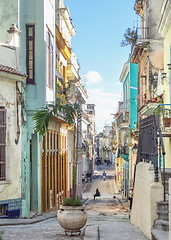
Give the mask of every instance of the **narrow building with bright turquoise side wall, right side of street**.
POLYGON ((125 63, 120 82, 123 84, 123 122, 121 157, 123 159, 123 184, 122 190, 126 198, 129 197, 129 144, 130 133, 137 125, 137 94, 138 94, 138 67, 131 63, 130 56, 125 63))

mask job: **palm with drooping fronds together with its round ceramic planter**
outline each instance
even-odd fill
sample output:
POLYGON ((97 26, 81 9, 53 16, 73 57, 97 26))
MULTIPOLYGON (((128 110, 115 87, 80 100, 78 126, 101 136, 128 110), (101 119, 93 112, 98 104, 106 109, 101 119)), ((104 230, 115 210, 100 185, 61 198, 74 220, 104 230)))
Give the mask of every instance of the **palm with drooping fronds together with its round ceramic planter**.
POLYGON ((74 126, 74 151, 73 151, 73 193, 72 198, 63 200, 57 213, 59 224, 65 232, 79 232, 87 222, 87 213, 80 199, 76 196, 76 173, 77 173, 77 154, 78 154, 78 121, 80 119, 80 106, 78 103, 70 104, 61 98, 57 98, 55 104, 47 104, 43 109, 37 111, 33 117, 35 120, 35 130, 40 135, 44 135, 49 123, 53 118, 62 113, 68 125, 74 126), (76 143, 76 144, 75 144, 76 143))

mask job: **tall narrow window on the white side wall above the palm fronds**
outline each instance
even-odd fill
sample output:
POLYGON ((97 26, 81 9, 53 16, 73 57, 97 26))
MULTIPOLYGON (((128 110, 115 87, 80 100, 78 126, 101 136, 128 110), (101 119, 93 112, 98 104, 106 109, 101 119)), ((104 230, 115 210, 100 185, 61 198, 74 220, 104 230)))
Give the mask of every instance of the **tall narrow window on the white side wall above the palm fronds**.
POLYGON ((48 55, 48 87, 53 88, 53 43, 52 36, 47 33, 47 55, 48 55))

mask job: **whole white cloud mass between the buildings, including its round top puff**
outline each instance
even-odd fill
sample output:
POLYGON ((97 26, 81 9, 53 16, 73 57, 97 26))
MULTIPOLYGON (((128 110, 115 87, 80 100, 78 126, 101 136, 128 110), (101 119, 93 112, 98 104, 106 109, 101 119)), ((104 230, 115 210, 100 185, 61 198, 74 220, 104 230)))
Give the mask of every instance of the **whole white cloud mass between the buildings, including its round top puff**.
POLYGON ((105 124, 111 124, 116 113, 118 101, 121 100, 120 86, 115 86, 114 81, 105 82, 100 73, 89 71, 81 76, 81 82, 88 90, 88 103, 95 104, 95 122, 97 132, 102 131, 105 124), (118 88, 118 92, 116 89, 118 88))

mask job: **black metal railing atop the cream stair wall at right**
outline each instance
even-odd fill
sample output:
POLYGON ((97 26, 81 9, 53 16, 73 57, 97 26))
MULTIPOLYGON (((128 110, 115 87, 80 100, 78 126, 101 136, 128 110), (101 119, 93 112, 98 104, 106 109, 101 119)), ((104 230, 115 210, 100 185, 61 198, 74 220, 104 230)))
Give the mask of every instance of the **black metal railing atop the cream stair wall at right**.
MULTIPOLYGON (((159 104, 160 105, 160 104, 159 104)), ((163 106, 164 104, 161 104, 163 106)), ((159 108, 159 106, 158 106, 159 108)), ((157 108, 156 108, 157 109, 157 108)), ((149 162, 154 166, 154 181, 159 181, 159 169, 163 170, 164 201, 166 200, 165 181, 165 148, 160 125, 160 116, 157 111, 154 114, 140 121, 140 134, 136 165, 139 162, 149 162)), ((134 182, 135 182, 134 169, 134 182)))

